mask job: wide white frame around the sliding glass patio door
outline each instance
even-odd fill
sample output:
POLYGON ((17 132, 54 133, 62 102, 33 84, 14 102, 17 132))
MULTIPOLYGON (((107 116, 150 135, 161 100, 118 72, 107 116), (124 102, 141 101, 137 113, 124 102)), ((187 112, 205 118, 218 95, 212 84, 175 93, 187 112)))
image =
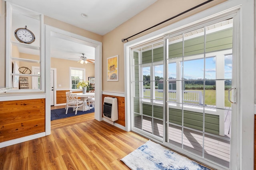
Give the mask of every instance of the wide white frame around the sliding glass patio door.
MULTIPOLYGON (((230 159, 230 169, 253 169, 254 167, 254 18, 250 19, 250 12, 254 14, 254 1, 246 0, 232 0, 226 1, 222 4, 216 5, 208 10, 202 11, 184 20, 173 23, 167 27, 139 37, 138 39, 131 40, 124 44, 124 66, 125 66, 125 108, 126 108, 126 130, 131 130, 131 115, 132 108, 130 107, 130 89, 131 89, 131 60, 130 60, 130 47, 134 47, 142 42, 149 41, 150 38, 157 36, 164 36, 170 32, 175 32, 181 27, 184 28, 190 24, 196 24, 208 20, 211 17, 221 18, 220 15, 229 15, 237 12, 236 24, 234 33, 237 33, 236 41, 233 49, 236 50, 237 68, 240 72, 237 75, 240 78, 241 86, 235 84, 240 89, 237 94, 238 106, 234 109, 238 111, 237 115, 233 116, 235 120, 232 121, 232 134, 233 144, 231 150, 234 151, 230 159), (243 23, 243 24, 241 24, 243 23), (251 62, 250 62, 251 61, 251 62), (248 73, 252 73, 251 75, 248 73)), ((212 166, 216 166, 212 164, 212 166)), ((220 169, 222 169, 220 167, 220 169)))

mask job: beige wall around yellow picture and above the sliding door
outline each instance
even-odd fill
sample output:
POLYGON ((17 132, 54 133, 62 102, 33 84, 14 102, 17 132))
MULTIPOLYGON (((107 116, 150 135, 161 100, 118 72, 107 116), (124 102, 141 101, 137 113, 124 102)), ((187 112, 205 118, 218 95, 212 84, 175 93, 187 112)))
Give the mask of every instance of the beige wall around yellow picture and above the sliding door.
MULTIPOLYGON (((188 14, 184 14, 181 17, 178 17, 174 20, 168 21, 158 27, 150 29, 140 35, 132 37, 129 39, 138 38, 142 35, 148 34, 152 31, 156 31, 164 26, 170 25, 174 21, 181 20, 189 15, 198 13, 206 8, 210 8, 220 2, 225 0, 215 0, 210 2, 206 6, 203 6, 199 9, 193 10, 188 14)), ((205 2, 205 0, 158 0, 150 7, 146 8, 140 14, 134 16, 130 20, 126 21, 113 31, 107 33, 103 36, 103 57, 102 57, 102 90, 111 91, 111 92, 124 92, 124 43, 121 41, 124 38, 130 37, 140 31, 143 31, 157 23, 160 23, 172 16, 180 14, 185 10, 188 10, 198 4, 205 2), (178 8, 177 8, 178 7, 178 8), (119 81, 118 82, 108 82, 106 80, 107 75, 107 64, 106 59, 114 55, 119 55, 119 81)))

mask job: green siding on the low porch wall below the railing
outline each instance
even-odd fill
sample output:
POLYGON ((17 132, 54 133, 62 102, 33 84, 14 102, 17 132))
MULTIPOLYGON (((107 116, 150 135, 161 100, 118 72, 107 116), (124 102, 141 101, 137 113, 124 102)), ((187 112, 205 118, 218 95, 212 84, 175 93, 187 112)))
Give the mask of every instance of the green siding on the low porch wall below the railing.
MULTIPOLYGON (((163 119, 163 107, 142 104, 143 115, 163 119), (152 111, 153 109, 153 111, 152 111)), ((169 108, 169 122, 182 125, 182 110, 169 108)), ((184 110, 184 126, 192 129, 203 130, 203 113, 184 110)), ((205 114, 205 132, 219 135, 219 116, 205 114)))

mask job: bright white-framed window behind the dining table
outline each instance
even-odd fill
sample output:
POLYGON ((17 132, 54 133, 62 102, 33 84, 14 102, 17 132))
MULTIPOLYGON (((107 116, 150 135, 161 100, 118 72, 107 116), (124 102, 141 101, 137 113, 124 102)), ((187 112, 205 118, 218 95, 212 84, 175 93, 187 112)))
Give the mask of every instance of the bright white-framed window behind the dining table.
POLYGON ((70 68, 71 89, 78 89, 76 85, 78 82, 85 80, 85 69, 83 68, 70 68))

